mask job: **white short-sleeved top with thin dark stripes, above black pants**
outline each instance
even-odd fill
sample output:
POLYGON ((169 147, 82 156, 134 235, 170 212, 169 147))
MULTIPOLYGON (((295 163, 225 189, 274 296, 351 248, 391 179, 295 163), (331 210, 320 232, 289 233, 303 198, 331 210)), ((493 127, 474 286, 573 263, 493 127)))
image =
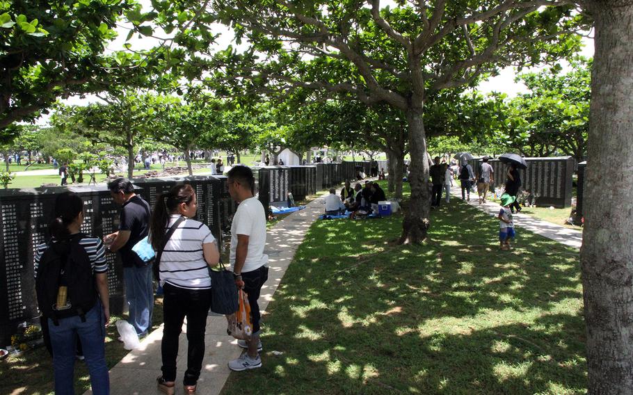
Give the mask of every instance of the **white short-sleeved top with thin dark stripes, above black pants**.
MULTIPOLYGON (((165 232, 169 232, 178 218, 179 215, 170 216, 165 232)), ((207 225, 192 219, 182 221, 161 255, 161 285, 168 283, 185 289, 211 288, 202 245, 214 241, 216 239, 207 225)))

